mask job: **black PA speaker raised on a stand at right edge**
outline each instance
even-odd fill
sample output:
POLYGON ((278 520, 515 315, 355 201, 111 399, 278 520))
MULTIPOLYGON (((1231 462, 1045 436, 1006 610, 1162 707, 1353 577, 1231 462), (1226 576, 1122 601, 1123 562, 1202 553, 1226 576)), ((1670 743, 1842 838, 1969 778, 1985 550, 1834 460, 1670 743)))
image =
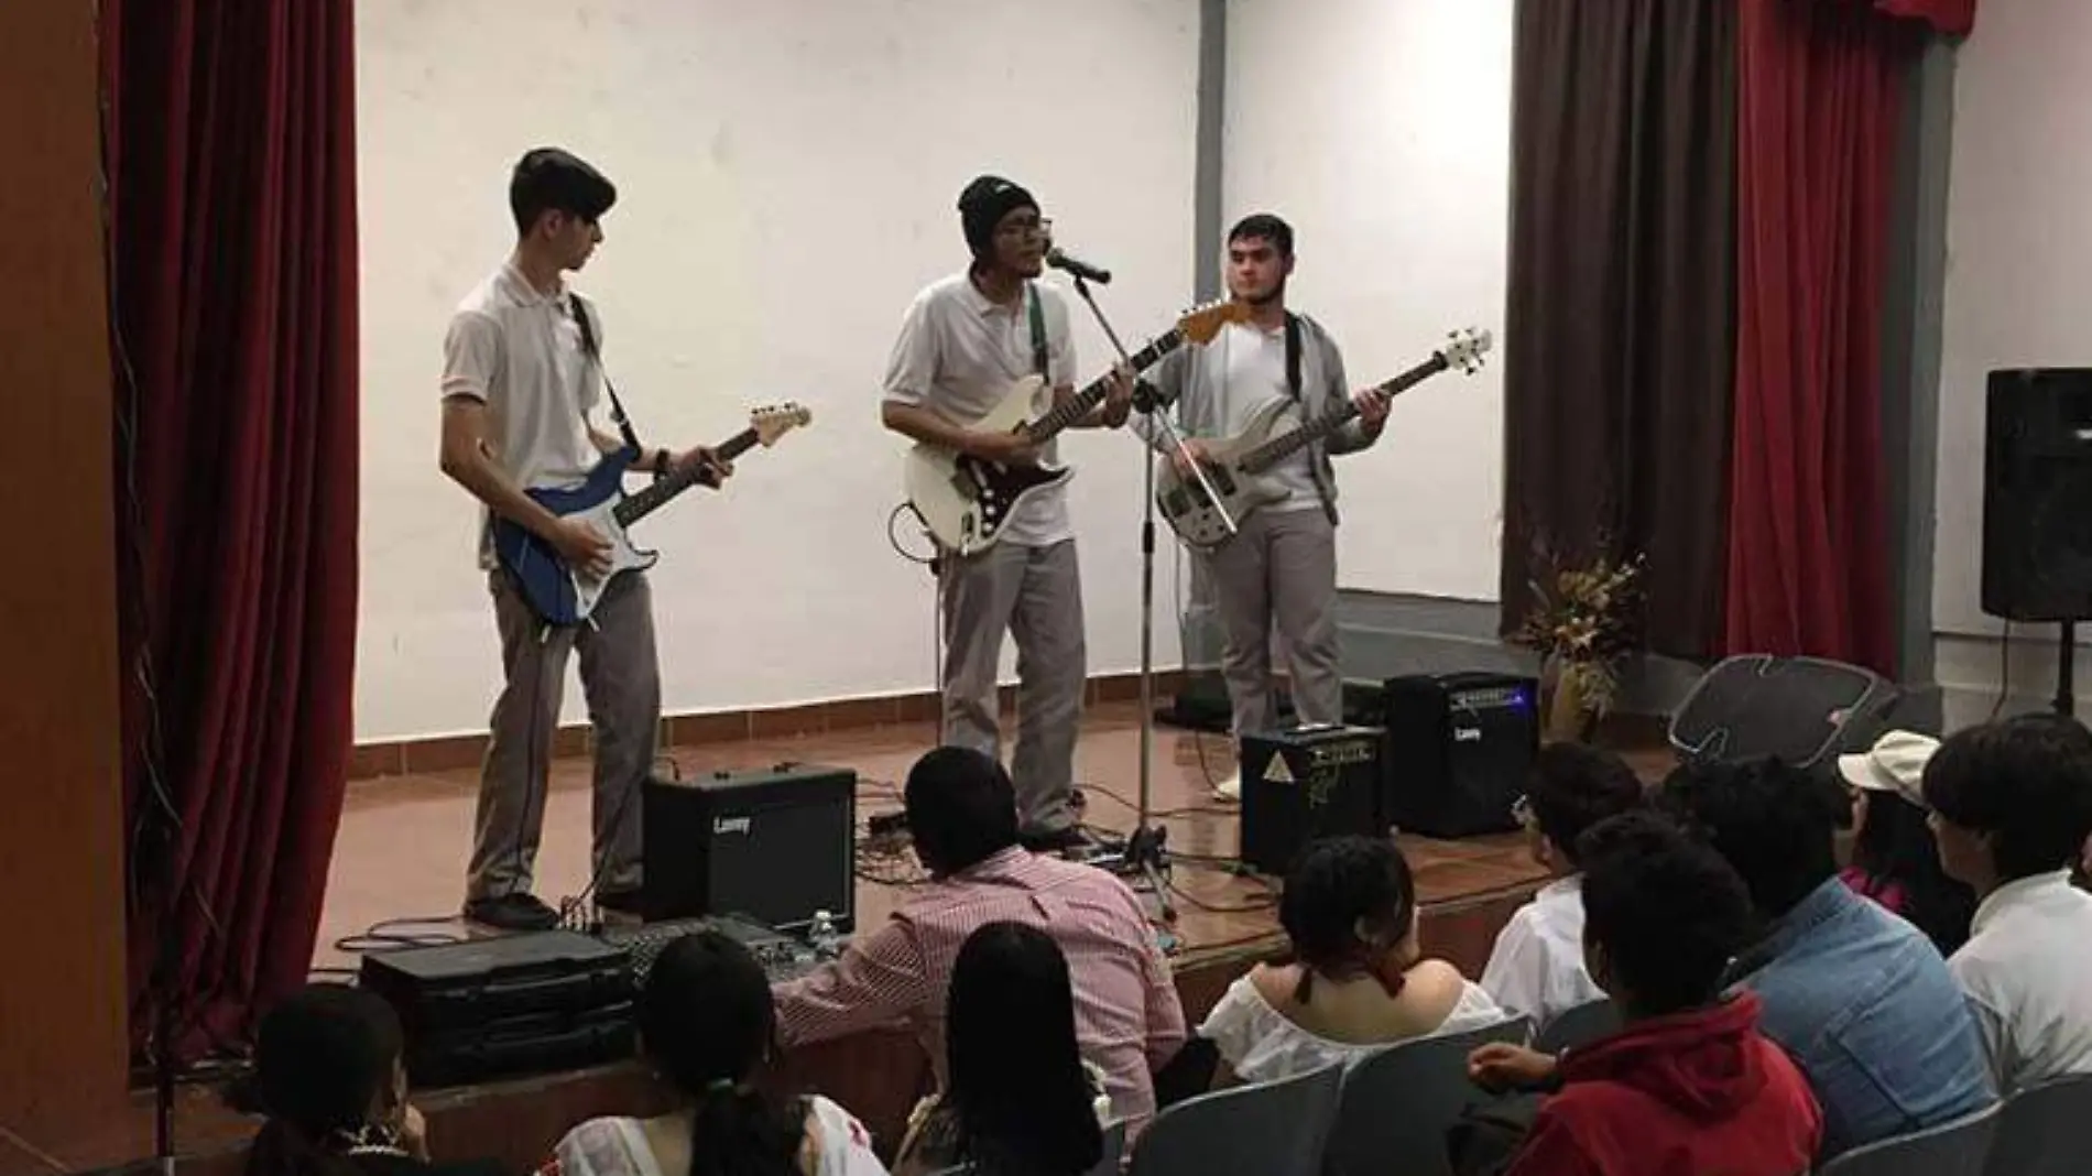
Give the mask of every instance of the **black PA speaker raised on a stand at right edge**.
POLYGON ((1989 372, 1983 611, 2092 619, 2092 368, 1989 372))

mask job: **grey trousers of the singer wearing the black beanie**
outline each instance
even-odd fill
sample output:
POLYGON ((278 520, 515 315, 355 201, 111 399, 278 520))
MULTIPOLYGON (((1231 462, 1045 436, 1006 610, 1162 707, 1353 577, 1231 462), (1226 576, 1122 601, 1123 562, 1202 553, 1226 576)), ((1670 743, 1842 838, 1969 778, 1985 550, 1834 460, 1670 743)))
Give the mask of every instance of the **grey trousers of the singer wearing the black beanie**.
POLYGON ((1025 833, 1075 822, 1075 726, 1088 684, 1082 634, 1082 569, 1075 540, 1052 546, 1000 542, 960 559, 946 552, 943 741, 1002 755, 996 670, 1002 630, 1017 638, 1017 820, 1025 833))

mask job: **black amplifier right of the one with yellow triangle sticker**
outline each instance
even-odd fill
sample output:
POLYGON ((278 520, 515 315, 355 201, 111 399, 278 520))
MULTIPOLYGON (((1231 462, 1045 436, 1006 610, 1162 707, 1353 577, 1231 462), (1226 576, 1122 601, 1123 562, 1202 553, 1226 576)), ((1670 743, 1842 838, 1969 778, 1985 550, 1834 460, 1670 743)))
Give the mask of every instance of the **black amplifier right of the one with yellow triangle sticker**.
POLYGON ((1379 714, 1387 728, 1383 824, 1425 837, 1519 827, 1510 810, 1540 751, 1538 680, 1485 672, 1389 678, 1379 714))

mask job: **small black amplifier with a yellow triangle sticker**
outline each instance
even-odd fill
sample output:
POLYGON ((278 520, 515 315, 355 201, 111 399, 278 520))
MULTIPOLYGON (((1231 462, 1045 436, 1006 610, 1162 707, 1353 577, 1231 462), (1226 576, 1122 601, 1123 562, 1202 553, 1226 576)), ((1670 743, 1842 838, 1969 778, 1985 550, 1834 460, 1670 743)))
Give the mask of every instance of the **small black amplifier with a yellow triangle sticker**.
POLYGON ((1377 726, 1308 726, 1243 737, 1243 864, 1282 875, 1310 841, 1385 837, 1377 726))

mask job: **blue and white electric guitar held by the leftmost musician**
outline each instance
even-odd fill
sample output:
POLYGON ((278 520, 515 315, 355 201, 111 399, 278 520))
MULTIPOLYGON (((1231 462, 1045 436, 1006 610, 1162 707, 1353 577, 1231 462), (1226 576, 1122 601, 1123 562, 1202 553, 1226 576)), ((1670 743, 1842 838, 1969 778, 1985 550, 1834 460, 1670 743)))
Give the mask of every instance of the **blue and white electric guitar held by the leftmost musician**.
MULTIPOLYGON (((778 437, 812 421, 814 414, 793 402, 755 408, 749 412, 749 427, 728 437, 713 452, 720 460, 734 460, 755 446, 768 448, 778 444, 778 437)), ((626 529, 667 506, 684 490, 699 485, 707 473, 707 467, 690 465, 657 479, 638 494, 626 494, 623 477, 638 456, 638 450, 630 446, 605 456, 588 471, 588 479, 573 490, 525 490, 546 511, 563 519, 584 519, 596 527, 596 534, 609 540, 611 569, 600 578, 569 567, 552 544, 533 536, 523 525, 502 517, 494 519, 494 555, 515 578, 523 601, 546 624, 573 626, 586 621, 596 611, 596 601, 602 598, 602 590, 609 588, 611 580, 626 571, 644 571, 659 563, 661 555, 632 546, 632 536, 626 529)))

